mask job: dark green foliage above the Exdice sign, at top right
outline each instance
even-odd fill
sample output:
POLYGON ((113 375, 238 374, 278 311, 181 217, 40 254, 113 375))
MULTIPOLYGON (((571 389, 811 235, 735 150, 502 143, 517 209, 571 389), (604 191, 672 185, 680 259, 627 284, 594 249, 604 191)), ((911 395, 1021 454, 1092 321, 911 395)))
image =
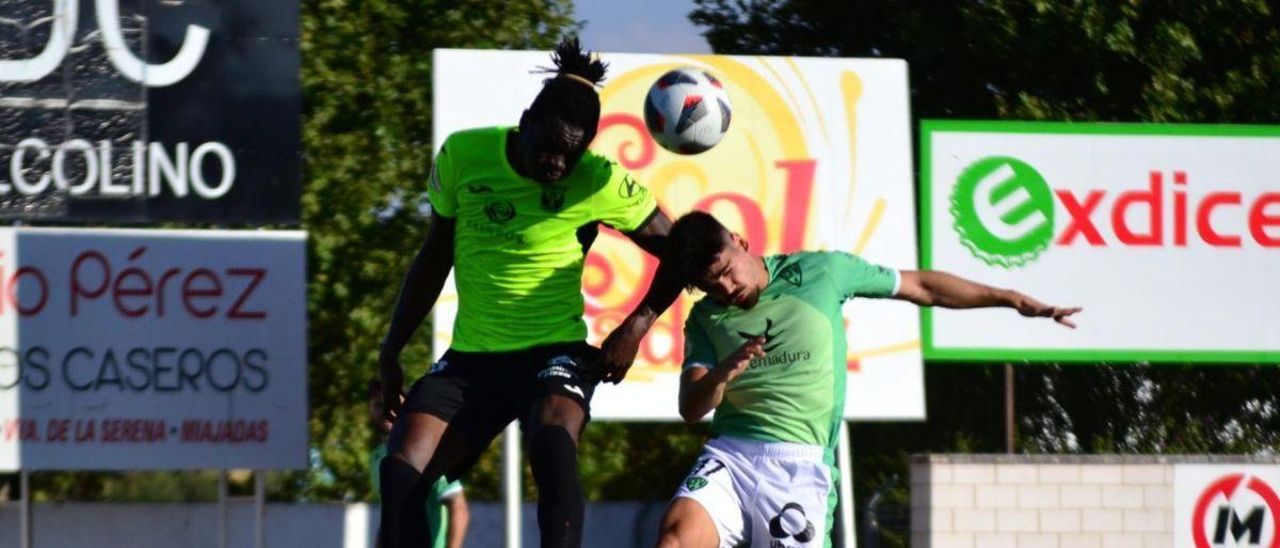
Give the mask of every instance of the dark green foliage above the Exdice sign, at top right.
POLYGON ((1280 115, 1280 13, 1265 0, 695 3, 719 54, 906 59, 920 118, 1280 115))

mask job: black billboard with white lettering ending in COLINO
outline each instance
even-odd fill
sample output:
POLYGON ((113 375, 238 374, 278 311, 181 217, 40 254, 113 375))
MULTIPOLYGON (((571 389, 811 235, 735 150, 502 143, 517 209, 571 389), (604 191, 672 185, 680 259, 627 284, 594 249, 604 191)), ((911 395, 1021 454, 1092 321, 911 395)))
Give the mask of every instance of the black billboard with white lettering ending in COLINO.
POLYGON ((298 222, 298 4, 0 0, 0 219, 298 222))

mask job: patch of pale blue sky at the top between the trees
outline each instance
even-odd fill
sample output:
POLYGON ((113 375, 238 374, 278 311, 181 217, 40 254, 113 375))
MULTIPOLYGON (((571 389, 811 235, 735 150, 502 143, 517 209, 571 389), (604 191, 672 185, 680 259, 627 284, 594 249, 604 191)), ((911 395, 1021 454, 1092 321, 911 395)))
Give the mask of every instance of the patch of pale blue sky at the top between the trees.
POLYGON ((585 20, 582 45, 595 51, 709 54, 712 47, 689 22, 692 0, 575 0, 585 20))

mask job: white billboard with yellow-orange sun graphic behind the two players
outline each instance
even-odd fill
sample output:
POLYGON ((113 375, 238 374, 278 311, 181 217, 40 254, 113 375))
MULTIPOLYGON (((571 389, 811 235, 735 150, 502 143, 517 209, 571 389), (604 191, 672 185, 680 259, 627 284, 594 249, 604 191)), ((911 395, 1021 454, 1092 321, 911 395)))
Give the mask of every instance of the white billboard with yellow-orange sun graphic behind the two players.
MULTIPOLYGON (((603 54, 609 78, 593 149, 657 196, 672 216, 716 214, 765 255, 844 250, 914 269, 915 201, 906 63, 892 59, 805 59, 721 55, 603 54), (733 105, 732 125, 714 149, 681 156, 645 131, 649 86, 677 67, 712 72, 733 105)), ((452 132, 513 125, 541 88, 545 51, 436 50, 435 146, 452 132)), ((425 182, 424 182, 425 184, 425 182)), ((657 261, 625 236, 602 230, 586 259, 589 339, 634 309, 657 261)), ((677 420, 681 328, 698 296, 684 294, 653 328, 621 385, 602 385, 600 419, 677 420)), ((457 293, 452 279, 435 307, 435 351, 448 347, 457 293)), ((919 316, 891 301, 846 306, 846 416, 924 417, 919 316)))

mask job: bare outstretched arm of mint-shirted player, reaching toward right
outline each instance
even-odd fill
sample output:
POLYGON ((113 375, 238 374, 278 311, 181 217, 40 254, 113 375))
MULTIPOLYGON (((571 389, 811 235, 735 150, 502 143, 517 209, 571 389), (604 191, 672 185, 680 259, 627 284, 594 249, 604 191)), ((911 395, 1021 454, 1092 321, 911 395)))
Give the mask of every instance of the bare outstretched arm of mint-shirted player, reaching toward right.
POLYGON ((895 298, 910 301, 920 306, 941 306, 945 309, 1009 307, 1028 318, 1052 318, 1062 325, 1075 329, 1071 315, 1082 307, 1051 306, 1012 289, 1000 289, 983 286, 937 270, 902 270, 902 282, 895 298))

